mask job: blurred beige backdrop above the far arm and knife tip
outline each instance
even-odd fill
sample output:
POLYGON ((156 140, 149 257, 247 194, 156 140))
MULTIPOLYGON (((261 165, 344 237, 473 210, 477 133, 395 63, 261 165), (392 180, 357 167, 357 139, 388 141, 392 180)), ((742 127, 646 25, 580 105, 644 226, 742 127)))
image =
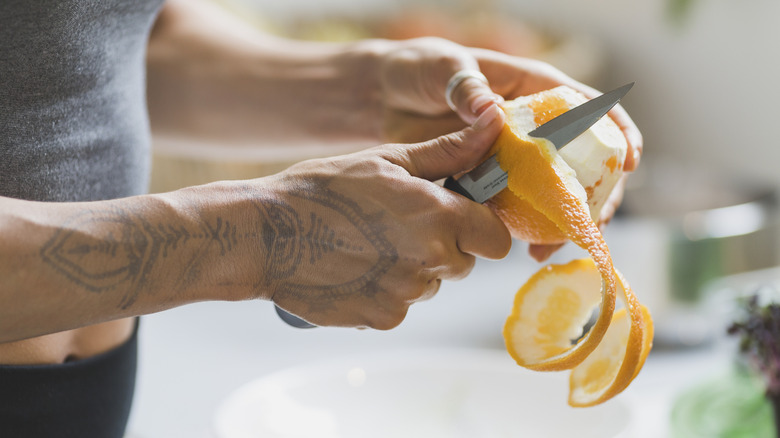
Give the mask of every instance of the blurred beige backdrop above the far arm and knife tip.
POLYGON ((549 61, 600 89, 636 81, 623 105, 648 161, 780 185, 773 0, 215 1, 283 35, 442 35, 549 61))

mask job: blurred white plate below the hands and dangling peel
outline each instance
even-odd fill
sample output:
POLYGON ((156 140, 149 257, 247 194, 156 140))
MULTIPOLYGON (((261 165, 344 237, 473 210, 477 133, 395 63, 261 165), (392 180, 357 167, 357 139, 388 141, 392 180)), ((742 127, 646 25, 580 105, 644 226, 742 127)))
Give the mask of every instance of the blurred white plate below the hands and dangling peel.
POLYGON ((567 376, 495 350, 367 353, 250 382, 214 426, 219 438, 611 438, 628 427, 619 400, 569 407, 567 376))

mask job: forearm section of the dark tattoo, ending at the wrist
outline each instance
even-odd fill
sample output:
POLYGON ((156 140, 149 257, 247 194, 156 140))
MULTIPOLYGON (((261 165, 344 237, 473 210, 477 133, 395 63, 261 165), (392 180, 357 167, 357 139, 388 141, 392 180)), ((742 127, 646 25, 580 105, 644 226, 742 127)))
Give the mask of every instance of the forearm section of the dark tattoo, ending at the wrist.
POLYGON ((41 248, 40 256, 88 291, 124 290, 120 308, 125 309, 148 287, 160 258, 180 256, 188 246, 200 248, 189 252, 193 255, 180 276, 184 283, 194 276, 199 255, 207 248, 216 247, 224 255, 236 244, 235 225, 221 217, 188 229, 181 224, 153 224, 138 213, 111 207, 68 219, 41 248))

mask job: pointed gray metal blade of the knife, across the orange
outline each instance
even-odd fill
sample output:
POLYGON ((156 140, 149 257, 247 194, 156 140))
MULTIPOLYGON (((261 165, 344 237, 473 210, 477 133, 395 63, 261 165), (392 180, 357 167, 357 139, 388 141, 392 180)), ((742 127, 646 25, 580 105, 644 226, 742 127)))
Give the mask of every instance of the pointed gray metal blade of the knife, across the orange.
POLYGON ((556 149, 560 149, 608 113, 632 86, 634 86, 633 82, 576 106, 529 132, 528 135, 546 138, 555 145, 556 149))

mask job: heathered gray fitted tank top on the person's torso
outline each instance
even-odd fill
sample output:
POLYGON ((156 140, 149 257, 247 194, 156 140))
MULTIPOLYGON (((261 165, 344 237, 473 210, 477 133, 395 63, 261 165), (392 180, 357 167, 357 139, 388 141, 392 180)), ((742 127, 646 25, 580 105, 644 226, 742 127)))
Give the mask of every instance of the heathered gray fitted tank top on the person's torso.
POLYGON ((0 196, 144 193, 149 29, 162 0, 0 1, 0 196))

